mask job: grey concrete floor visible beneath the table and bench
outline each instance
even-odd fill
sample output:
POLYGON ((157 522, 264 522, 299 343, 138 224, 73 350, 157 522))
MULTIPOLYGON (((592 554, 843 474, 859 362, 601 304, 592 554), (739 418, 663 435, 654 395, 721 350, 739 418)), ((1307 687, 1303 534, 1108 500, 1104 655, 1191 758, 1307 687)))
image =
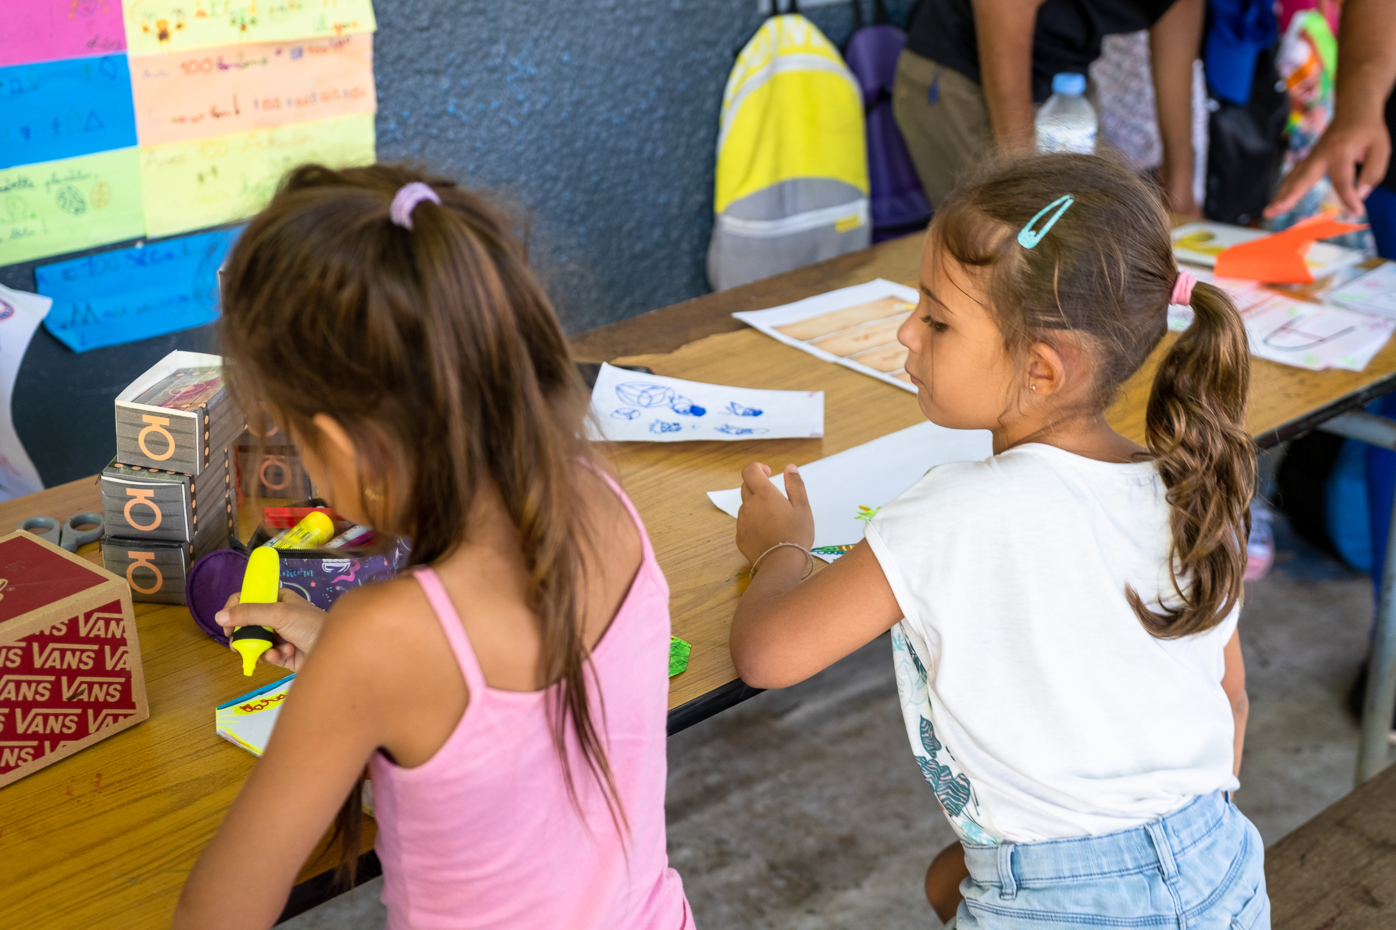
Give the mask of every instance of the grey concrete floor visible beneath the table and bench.
MULTIPOLYGON (((1347 688, 1371 582, 1277 528, 1241 616, 1251 719, 1237 804, 1273 843, 1353 786, 1347 688)), ((940 927, 921 895, 953 834, 906 743, 882 637, 669 740, 669 855, 706 930, 940 927)), ((380 883, 288 930, 378 930, 380 883)))

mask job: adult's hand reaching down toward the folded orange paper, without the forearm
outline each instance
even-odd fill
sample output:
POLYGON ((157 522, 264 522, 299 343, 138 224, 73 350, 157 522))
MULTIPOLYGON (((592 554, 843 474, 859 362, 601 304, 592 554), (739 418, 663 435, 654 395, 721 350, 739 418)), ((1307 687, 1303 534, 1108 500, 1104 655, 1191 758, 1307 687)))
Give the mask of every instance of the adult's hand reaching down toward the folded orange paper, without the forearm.
POLYGON ((1293 209, 1323 175, 1333 182, 1333 193, 1349 212, 1362 212, 1362 201, 1386 176, 1392 154, 1390 135, 1379 109, 1362 117, 1340 116, 1342 113, 1333 119, 1314 151, 1284 176, 1275 200, 1265 208, 1266 216, 1279 216, 1293 209), (1362 166, 1362 172, 1354 184, 1357 165, 1362 166))

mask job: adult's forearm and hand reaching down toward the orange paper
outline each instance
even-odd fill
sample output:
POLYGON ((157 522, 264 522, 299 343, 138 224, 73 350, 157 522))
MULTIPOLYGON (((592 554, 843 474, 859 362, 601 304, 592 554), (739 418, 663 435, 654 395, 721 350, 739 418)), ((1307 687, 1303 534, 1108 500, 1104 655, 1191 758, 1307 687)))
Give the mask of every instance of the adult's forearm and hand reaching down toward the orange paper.
POLYGON ((1390 130, 1383 110, 1393 85, 1396 7, 1390 0, 1347 0, 1337 29, 1333 121, 1314 151, 1280 182, 1275 200, 1265 208, 1266 216, 1293 209, 1323 175, 1349 211, 1362 211, 1362 201, 1386 176, 1390 162, 1390 130), (1357 165, 1362 166, 1361 175, 1357 165))

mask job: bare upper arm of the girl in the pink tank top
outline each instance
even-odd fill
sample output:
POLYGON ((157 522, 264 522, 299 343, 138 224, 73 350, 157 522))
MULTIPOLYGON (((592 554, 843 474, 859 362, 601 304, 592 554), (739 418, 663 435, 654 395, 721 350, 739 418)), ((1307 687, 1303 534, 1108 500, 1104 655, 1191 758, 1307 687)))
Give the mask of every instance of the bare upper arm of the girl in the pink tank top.
POLYGON ((376 598, 350 595, 336 605, 265 755, 184 884, 176 930, 269 927, 300 866, 385 741, 399 649, 374 628, 367 605, 376 598))

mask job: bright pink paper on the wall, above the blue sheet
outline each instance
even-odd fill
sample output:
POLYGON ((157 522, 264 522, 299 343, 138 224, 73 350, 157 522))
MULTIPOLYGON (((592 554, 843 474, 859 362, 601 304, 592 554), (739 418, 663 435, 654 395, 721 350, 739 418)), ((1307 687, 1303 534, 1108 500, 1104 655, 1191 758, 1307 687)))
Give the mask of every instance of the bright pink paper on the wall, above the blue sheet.
POLYGON ((0 67, 126 52, 120 0, 6 0, 0 67))

